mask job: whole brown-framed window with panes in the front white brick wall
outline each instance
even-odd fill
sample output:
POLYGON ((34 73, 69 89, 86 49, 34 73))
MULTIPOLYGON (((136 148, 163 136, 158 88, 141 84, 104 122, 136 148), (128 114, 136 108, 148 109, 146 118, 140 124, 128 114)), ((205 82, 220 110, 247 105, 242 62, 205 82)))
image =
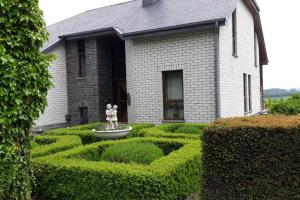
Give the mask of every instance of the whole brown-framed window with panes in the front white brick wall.
POLYGON ((164 118, 183 120, 183 72, 163 72, 164 118))

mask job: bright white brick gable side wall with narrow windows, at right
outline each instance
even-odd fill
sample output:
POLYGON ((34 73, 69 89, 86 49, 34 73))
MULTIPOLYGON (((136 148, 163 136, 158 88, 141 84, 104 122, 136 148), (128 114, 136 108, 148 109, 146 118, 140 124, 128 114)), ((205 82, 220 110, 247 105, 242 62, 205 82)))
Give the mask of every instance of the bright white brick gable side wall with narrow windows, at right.
POLYGON ((243 1, 237 4, 237 51, 232 56, 232 19, 220 27, 221 117, 244 116, 243 73, 252 76, 252 114, 260 111, 259 67, 255 67, 254 21, 243 1))

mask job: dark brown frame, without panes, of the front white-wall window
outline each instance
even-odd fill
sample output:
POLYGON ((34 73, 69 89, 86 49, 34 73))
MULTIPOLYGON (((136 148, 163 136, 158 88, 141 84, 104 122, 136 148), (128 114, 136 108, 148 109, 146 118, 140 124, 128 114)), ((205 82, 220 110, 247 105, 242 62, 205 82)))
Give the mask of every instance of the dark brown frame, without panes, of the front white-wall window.
POLYGON ((183 82, 183 70, 174 70, 174 71, 163 71, 162 72, 162 81, 163 81, 163 112, 164 112, 164 120, 166 121, 184 121, 184 82, 183 82), (168 92, 168 87, 167 87, 167 77, 170 74, 175 74, 178 73, 181 75, 181 81, 182 81, 182 99, 172 99, 168 100, 167 99, 167 92, 168 92), (183 105, 183 118, 177 118, 177 119, 172 119, 167 117, 167 112, 166 108, 168 103, 182 103, 183 105))

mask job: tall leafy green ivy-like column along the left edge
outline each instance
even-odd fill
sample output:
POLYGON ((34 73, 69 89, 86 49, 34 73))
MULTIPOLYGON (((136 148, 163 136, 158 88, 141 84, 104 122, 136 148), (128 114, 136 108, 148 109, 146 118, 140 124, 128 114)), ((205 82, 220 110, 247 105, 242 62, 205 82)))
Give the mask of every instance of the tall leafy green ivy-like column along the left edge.
POLYGON ((51 86, 47 36, 38 0, 0 1, 0 199, 29 199, 29 129, 51 86))

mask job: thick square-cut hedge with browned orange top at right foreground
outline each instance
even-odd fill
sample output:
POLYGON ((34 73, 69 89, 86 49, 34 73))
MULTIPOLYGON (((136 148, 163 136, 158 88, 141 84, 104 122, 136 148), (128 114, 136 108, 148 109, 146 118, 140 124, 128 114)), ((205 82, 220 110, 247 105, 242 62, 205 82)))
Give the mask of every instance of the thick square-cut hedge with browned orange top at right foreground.
POLYGON ((300 199, 300 116, 219 120, 203 136, 202 199, 300 199))

